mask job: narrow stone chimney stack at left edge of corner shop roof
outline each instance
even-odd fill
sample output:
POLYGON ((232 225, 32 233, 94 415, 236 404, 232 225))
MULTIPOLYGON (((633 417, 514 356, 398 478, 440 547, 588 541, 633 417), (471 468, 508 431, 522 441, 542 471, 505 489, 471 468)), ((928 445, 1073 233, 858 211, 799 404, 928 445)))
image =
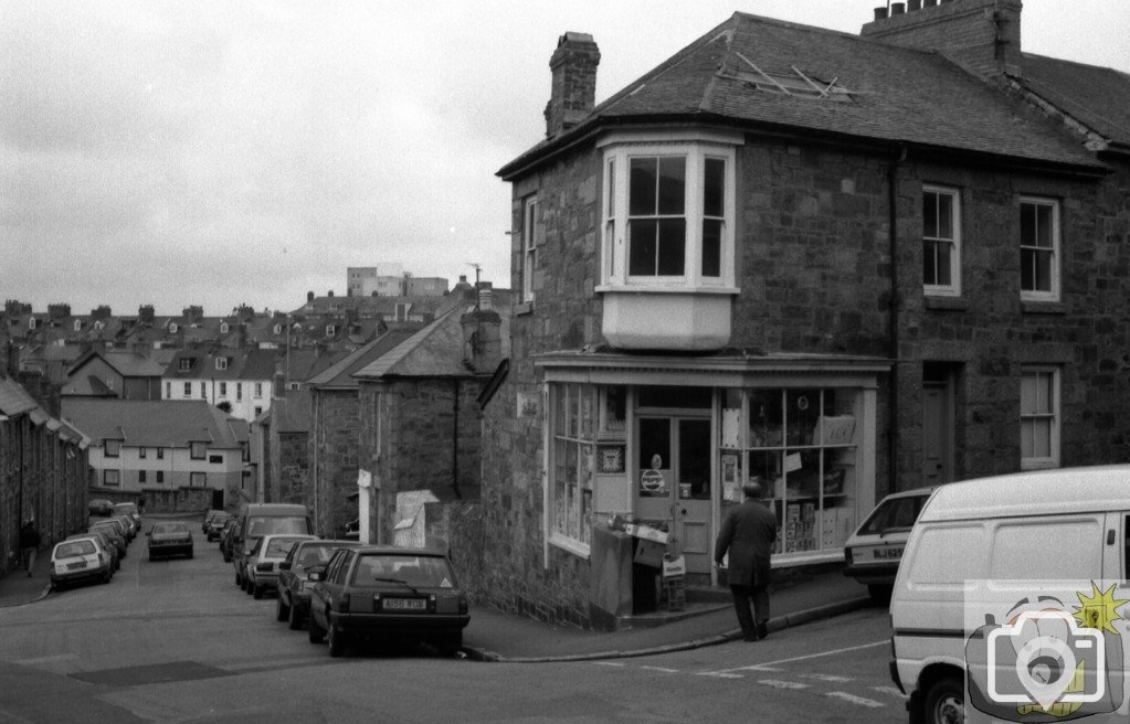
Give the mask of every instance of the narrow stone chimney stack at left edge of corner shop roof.
POLYGON ((549 59, 553 85, 546 104, 546 137, 554 138, 592 113, 597 102, 597 66, 600 50, 588 33, 566 33, 557 38, 549 59))

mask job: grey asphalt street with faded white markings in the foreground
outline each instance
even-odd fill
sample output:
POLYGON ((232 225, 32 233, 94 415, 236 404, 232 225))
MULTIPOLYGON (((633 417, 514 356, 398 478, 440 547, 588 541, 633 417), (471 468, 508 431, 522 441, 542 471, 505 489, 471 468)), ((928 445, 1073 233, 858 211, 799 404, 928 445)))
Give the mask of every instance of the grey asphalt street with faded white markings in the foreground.
MULTIPOLYGON (((886 612, 660 656, 504 664, 420 646, 332 660, 195 557, 145 538, 107 585, 0 610, 0 722, 903 722, 886 612)), ((473 617, 473 610, 472 610, 473 617)))

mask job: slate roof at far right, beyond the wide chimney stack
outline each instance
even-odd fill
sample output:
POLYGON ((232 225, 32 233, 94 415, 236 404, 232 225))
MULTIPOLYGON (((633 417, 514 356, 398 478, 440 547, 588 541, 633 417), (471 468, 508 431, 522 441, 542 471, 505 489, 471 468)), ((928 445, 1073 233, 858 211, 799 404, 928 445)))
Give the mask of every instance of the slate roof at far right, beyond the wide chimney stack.
POLYGON ((1024 53, 1016 80, 1096 133, 1130 146, 1130 75, 1024 53))

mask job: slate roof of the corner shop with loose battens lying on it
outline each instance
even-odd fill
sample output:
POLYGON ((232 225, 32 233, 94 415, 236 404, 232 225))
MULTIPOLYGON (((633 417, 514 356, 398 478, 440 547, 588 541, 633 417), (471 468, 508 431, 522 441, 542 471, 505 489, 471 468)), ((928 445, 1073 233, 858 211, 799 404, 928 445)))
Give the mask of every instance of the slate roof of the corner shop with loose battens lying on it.
POLYGON ((625 122, 692 121, 991 154, 1016 162, 1105 167, 1053 123, 941 55, 744 12, 710 30, 600 105, 580 124, 514 159, 511 178, 551 151, 625 122), (753 63, 753 64, 750 64, 753 63), (767 73, 851 91, 832 102, 765 90, 767 73))

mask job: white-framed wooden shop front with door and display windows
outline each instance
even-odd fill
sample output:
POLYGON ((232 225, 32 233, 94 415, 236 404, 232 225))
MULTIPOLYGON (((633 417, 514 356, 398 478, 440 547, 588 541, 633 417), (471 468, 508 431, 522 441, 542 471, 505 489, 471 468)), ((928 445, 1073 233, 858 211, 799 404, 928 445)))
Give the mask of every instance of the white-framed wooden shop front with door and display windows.
POLYGON ((758 482, 777 516, 774 567, 841 559, 875 505, 885 360, 562 352, 538 366, 547 561, 549 547, 589 558, 594 531, 635 523, 689 584, 719 585, 714 538, 744 482, 758 482))

